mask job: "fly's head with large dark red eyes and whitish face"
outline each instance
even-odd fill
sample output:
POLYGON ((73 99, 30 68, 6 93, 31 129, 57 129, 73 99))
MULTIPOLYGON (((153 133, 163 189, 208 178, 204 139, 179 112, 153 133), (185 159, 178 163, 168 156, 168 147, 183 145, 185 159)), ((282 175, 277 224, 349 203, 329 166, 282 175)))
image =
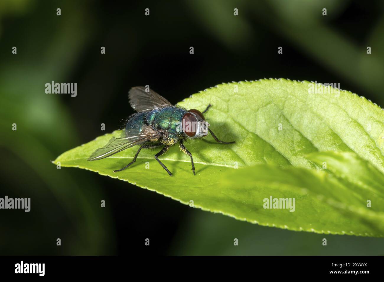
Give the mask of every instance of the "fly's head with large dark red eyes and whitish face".
POLYGON ((200 138, 208 135, 209 123, 199 110, 191 109, 184 114, 179 124, 178 132, 183 132, 190 138, 200 138))

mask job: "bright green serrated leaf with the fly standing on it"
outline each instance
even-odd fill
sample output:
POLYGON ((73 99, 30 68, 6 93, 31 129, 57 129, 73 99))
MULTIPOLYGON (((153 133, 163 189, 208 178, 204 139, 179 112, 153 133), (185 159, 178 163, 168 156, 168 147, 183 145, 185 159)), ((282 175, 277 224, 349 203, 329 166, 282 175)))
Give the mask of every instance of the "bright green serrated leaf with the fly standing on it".
POLYGON ((383 236, 384 111, 348 91, 311 82, 263 79, 218 85, 180 106, 204 110, 210 129, 225 141, 189 140, 197 175, 178 146, 162 162, 138 147, 89 162, 106 134, 60 155, 79 167, 157 191, 184 204, 262 225, 317 233, 383 236), (329 151, 329 152, 328 152, 329 151), (149 166, 149 169, 147 169, 149 166), (234 169, 239 167, 239 169, 234 169), (263 199, 295 198, 295 212, 264 209, 263 199), (372 207, 367 207, 367 200, 372 207))

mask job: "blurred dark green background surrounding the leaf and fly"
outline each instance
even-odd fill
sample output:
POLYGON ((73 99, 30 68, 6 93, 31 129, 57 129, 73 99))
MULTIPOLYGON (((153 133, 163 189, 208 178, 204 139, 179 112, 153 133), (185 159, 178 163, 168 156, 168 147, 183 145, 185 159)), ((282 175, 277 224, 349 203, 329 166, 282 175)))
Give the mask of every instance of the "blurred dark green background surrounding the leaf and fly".
POLYGON ((0 62, 0 197, 31 198, 29 213, 0 210, 0 255, 383 254, 382 238, 261 227, 50 163, 121 127, 137 85, 176 103, 221 82, 281 77, 340 83, 384 106, 383 1, 2 0, 0 62), (51 81, 76 82, 77 96, 46 94, 51 81))

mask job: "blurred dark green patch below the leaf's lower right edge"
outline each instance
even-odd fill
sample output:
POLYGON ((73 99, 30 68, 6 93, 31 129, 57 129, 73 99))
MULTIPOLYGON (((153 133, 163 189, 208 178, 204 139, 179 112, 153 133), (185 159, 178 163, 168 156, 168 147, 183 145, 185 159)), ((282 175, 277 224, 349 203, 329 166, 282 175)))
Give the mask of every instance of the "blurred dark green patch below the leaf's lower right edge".
POLYGON ((380 237, 291 232, 199 210, 182 222, 174 241, 169 254, 178 256, 377 256, 384 248, 380 237), (324 238, 331 247, 323 246, 324 238))

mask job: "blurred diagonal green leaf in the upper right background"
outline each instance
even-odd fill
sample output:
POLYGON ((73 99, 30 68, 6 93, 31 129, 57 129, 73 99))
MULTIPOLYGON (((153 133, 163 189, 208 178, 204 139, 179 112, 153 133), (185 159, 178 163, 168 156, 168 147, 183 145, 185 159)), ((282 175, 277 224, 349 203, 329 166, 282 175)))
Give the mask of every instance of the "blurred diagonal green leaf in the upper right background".
MULTIPOLYGON (((375 45, 376 51, 373 52, 372 40, 357 45, 345 33, 328 24, 335 15, 345 12, 347 1, 274 0, 254 1, 252 4, 257 18, 295 43, 304 54, 381 99, 384 66, 380 51, 377 51, 380 45, 375 45), (322 16, 323 8, 328 9, 327 16, 322 16), (367 46, 372 47, 372 54, 367 54, 367 46)), ((381 4, 378 2, 376 5, 381 4)))

